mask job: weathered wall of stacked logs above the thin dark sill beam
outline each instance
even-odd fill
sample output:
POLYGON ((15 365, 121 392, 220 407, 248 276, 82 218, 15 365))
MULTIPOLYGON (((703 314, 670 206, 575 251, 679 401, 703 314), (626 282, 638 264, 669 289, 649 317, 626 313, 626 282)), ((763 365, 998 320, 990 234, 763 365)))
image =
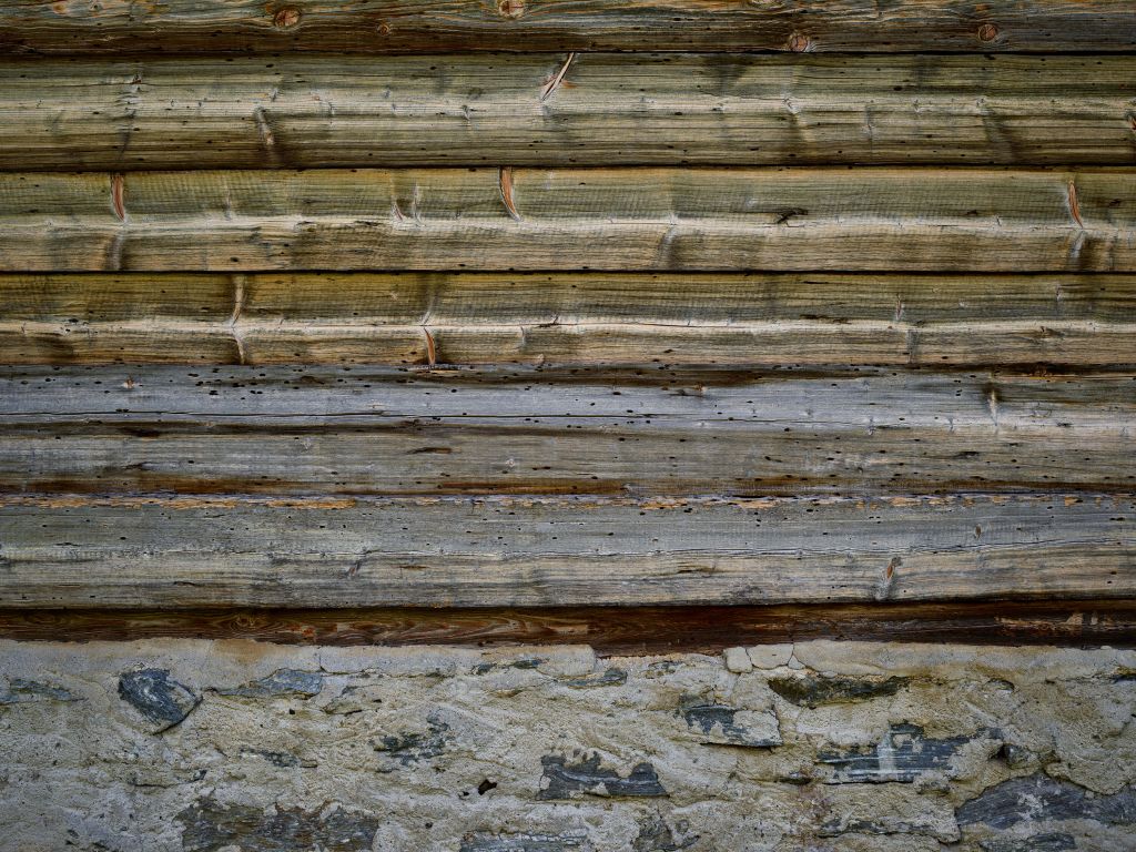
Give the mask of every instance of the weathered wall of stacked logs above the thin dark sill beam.
POLYGON ((0 41, 12 635, 1029 601, 1136 642, 1127 2, 31 3, 0 41))

